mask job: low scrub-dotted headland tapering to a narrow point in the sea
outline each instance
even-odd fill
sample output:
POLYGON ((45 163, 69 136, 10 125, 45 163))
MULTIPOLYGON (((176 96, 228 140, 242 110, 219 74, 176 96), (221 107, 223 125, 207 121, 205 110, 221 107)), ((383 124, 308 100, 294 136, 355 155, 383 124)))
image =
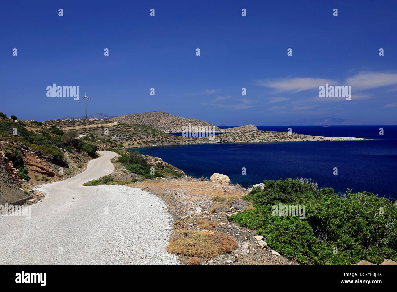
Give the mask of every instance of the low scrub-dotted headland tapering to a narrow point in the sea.
POLYGON ((301 135, 287 132, 241 130, 209 137, 182 137, 164 131, 139 125, 118 124, 109 125, 109 120, 51 120, 43 122, 44 127, 56 127, 67 131, 75 130, 81 136, 80 140, 98 146, 98 150, 161 146, 184 145, 202 143, 251 143, 251 142, 279 142, 279 141, 327 141, 327 140, 361 140, 353 137, 322 137, 301 135), (95 127, 94 127, 95 126, 95 127), (108 134, 105 134, 105 129, 108 134))

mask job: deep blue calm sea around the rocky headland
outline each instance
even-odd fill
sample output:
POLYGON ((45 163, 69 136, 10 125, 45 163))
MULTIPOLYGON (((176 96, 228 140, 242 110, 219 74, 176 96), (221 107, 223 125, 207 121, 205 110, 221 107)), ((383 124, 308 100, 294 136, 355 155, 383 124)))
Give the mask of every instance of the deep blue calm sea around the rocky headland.
MULTIPOLYGON (((228 128, 230 126, 223 126, 228 128)), ((259 130, 292 131, 307 135, 350 136, 370 141, 303 141, 224 143, 137 148, 161 157, 188 175, 226 174, 248 186, 278 178, 312 178, 335 191, 370 191, 397 197, 397 126, 257 126, 259 130), (379 128, 384 135, 379 135, 379 128), (241 168, 247 169, 242 175, 241 168), (333 175, 333 168, 338 175, 333 175)), ((220 127, 221 128, 221 127, 220 127)))

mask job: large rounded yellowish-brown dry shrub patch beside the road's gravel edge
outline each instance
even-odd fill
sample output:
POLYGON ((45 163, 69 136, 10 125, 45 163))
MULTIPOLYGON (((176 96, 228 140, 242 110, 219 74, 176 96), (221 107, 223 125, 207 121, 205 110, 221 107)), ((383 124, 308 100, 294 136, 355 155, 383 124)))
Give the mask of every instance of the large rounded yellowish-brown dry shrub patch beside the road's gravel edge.
POLYGON ((230 235, 214 232, 206 234, 199 230, 178 230, 170 239, 170 253, 210 258, 233 251, 239 244, 230 235))

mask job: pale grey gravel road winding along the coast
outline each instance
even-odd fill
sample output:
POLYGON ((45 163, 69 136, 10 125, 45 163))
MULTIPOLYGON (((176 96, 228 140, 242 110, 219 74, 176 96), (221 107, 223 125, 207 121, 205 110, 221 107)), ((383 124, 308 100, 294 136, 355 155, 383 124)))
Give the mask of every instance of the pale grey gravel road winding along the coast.
POLYGON ((172 219, 147 191, 83 183, 112 173, 116 153, 98 151, 81 174, 39 186, 27 217, 0 217, 0 264, 178 264, 166 251, 172 219))

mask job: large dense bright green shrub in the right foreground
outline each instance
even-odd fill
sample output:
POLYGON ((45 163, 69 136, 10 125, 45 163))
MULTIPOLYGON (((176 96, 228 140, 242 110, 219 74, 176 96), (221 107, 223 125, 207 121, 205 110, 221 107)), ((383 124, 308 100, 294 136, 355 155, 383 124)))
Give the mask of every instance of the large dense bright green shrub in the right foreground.
POLYGON ((397 259, 397 206, 392 200, 367 192, 342 197, 331 188, 318 190, 300 180, 264 184, 264 190, 254 188, 243 197, 256 209, 231 215, 229 220, 256 229, 270 248, 305 264, 397 259), (305 206, 304 219, 273 216, 272 206, 278 203, 305 206))

